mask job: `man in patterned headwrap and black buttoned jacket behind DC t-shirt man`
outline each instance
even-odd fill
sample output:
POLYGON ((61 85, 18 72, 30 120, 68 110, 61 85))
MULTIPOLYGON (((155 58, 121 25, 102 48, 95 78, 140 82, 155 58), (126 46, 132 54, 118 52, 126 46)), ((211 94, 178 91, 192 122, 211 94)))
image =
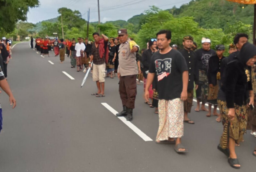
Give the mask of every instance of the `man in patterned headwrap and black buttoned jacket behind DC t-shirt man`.
POLYGON ((188 99, 184 101, 184 122, 187 122, 189 124, 194 124, 194 121, 191 121, 188 118, 188 113, 191 111, 191 107, 193 104, 193 98, 194 98, 194 83, 195 83, 195 89, 198 88, 198 82, 199 82, 199 71, 197 67, 197 59, 196 54, 194 51, 191 50, 193 47, 193 40, 194 38, 191 36, 185 36, 183 38, 183 49, 180 50, 180 53, 183 55, 183 57, 186 60, 187 66, 188 66, 188 99))

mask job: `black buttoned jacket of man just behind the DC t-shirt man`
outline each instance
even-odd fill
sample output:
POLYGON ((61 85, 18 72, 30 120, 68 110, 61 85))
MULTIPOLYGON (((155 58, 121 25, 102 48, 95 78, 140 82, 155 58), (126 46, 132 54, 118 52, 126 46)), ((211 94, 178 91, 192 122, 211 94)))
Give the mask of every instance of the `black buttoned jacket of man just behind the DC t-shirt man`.
POLYGON ((194 82, 196 85, 199 83, 199 70, 197 64, 197 58, 194 51, 188 51, 181 49, 180 53, 184 56, 188 66, 188 89, 194 88, 194 82))

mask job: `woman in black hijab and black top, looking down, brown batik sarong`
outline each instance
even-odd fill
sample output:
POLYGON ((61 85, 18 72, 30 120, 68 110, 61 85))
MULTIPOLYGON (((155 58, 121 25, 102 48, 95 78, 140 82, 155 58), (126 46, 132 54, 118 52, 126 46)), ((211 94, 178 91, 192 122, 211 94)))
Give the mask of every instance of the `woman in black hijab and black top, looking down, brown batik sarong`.
POLYGON ((220 103, 224 128, 218 149, 229 157, 228 163, 231 167, 239 169, 235 145, 243 140, 247 126, 247 106, 254 103, 249 69, 256 62, 255 45, 244 43, 239 54, 228 60, 223 69, 224 79, 221 78, 221 88, 225 90, 226 101, 220 103), (247 93, 250 97, 249 104, 247 104, 247 93))

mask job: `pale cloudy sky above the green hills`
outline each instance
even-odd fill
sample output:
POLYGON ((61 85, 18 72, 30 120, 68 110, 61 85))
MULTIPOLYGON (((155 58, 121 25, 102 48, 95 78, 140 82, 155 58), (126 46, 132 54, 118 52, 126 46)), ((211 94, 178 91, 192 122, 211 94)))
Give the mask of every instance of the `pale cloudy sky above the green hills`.
MULTIPOLYGON (((87 20, 87 11, 90 8, 90 21, 98 21, 97 0, 39 0, 40 6, 32 8, 28 12, 28 22, 36 23, 42 20, 58 16, 58 8, 67 7, 72 10, 79 10, 82 17, 87 20)), ((155 5, 161 9, 180 7, 191 0, 99 0, 100 20, 127 20, 134 15, 141 14, 149 6, 155 5)))

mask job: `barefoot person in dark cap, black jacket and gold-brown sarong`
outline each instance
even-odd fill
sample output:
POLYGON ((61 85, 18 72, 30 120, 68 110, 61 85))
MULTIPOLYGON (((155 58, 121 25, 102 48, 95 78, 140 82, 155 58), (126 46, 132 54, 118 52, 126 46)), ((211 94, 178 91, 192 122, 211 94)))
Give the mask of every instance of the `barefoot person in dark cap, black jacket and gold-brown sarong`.
POLYGON ((216 55, 210 57, 207 72, 207 78, 209 83, 209 93, 207 97, 207 101, 209 103, 209 113, 206 116, 211 116, 211 106, 214 105, 213 115, 218 116, 218 118, 216 119, 217 122, 221 121, 221 116, 217 113, 217 96, 219 92, 220 66, 222 60, 225 58, 225 56, 223 56, 224 51, 224 45, 219 44, 216 46, 216 55))

